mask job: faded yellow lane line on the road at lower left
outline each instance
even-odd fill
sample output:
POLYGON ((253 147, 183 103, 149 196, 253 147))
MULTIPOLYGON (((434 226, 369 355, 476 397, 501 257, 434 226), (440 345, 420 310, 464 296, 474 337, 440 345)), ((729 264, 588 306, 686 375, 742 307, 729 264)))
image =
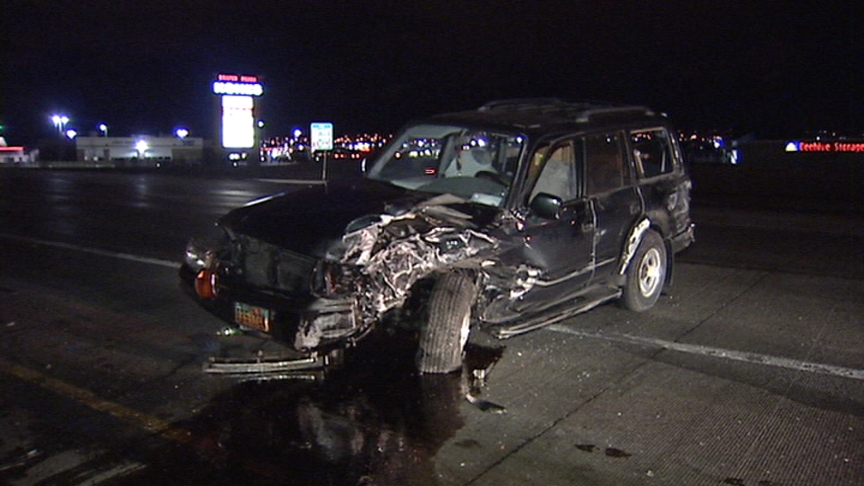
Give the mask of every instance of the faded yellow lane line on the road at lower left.
POLYGON ((87 407, 107 413, 120 420, 140 427, 147 432, 157 434, 163 438, 179 442, 181 444, 192 443, 192 433, 182 427, 178 427, 151 415, 133 410, 118 403, 105 400, 90 390, 70 385, 64 381, 53 378, 39 371, 10 363, 0 358, 0 373, 20 378, 26 382, 35 384, 41 388, 71 398, 87 407))

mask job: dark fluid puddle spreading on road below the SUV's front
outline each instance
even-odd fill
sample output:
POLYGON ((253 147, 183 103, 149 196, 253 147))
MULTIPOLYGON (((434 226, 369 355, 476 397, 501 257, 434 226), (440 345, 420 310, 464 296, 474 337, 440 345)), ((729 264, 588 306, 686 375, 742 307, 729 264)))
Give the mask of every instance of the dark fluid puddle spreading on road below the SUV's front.
POLYGON ((178 424, 191 447, 162 447, 124 484, 436 484, 432 459, 502 350, 469 350, 462 374, 420 375, 416 348, 393 336, 361 348, 323 380, 238 383, 178 424))

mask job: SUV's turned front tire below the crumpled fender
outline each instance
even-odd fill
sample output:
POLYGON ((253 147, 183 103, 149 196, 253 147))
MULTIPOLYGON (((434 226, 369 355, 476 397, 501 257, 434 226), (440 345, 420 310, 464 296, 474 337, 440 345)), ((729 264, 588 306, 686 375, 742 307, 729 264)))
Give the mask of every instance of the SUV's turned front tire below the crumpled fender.
POLYGON ((421 373, 450 373, 462 367, 475 294, 474 282, 461 273, 444 274, 435 282, 420 335, 421 373))

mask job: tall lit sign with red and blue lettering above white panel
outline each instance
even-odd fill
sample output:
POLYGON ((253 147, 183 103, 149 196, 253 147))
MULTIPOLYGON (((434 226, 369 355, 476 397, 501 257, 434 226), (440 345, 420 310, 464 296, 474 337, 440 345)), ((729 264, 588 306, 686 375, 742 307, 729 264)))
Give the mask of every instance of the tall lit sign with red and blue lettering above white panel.
POLYGON ((213 94, 218 95, 220 100, 222 147, 255 147, 256 100, 264 94, 258 76, 219 74, 212 87, 213 94))

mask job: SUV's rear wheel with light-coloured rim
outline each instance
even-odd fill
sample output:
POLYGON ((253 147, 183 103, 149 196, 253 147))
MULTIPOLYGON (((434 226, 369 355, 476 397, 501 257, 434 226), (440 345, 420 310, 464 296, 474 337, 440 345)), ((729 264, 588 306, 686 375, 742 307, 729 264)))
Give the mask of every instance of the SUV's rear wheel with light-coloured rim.
POLYGON ((627 268, 621 303, 641 312, 657 303, 666 281, 666 245, 655 231, 648 230, 627 268))

